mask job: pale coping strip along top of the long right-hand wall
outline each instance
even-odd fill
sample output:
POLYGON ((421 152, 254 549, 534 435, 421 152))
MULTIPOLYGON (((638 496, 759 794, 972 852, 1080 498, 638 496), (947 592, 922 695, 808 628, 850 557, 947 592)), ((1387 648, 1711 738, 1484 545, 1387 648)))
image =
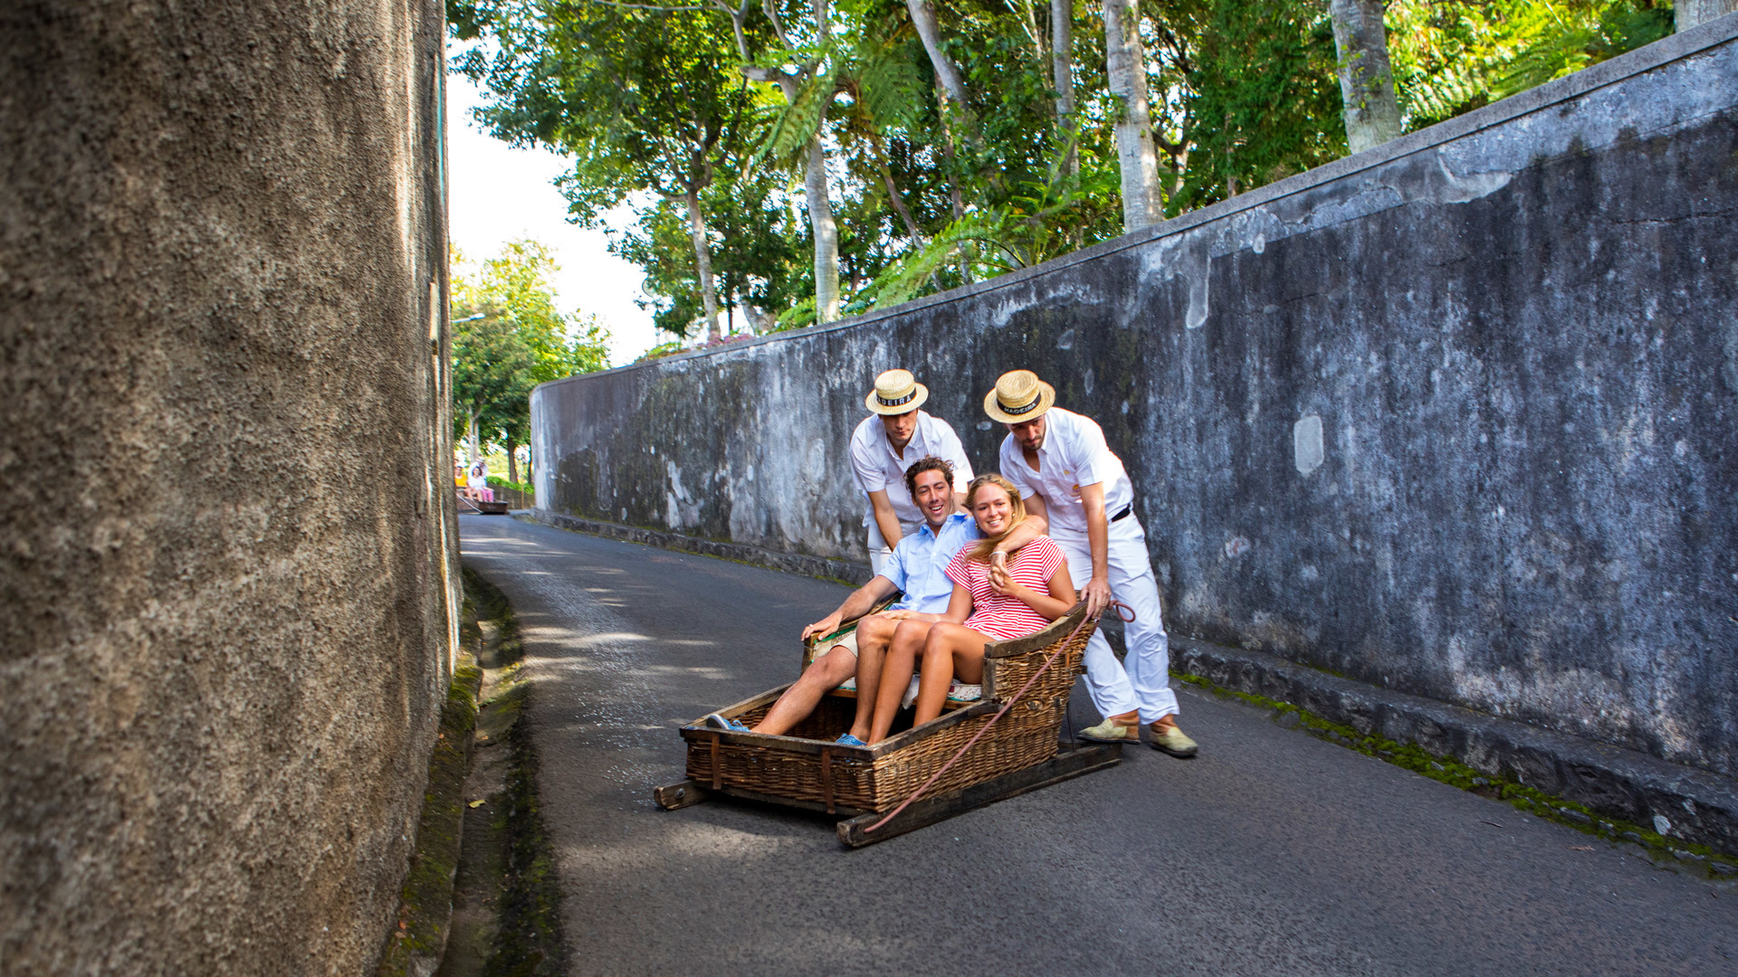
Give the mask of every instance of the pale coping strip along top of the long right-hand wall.
POLYGON ((874 322, 881 322, 881 320, 888 320, 888 318, 897 318, 897 316, 907 315, 907 313, 911 313, 914 309, 923 309, 923 308, 930 308, 930 306, 942 306, 942 304, 949 304, 949 302, 958 302, 961 299, 968 299, 968 297, 989 294, 989 292, 994 292, 998 289, 1006 289, 1006 287, 1017 285, 1017 283, 1025 282, 1029 278, 1048 275, 1051 271, 1060 271, 1064 268, 1072 268, 1072 266, 1081 264, 1085 261, 1091 261, 1091 259, 1097 259, 1097 257, 1102 257, 1102 256, 1107 256, 1107 254, 1116 254, 1119 250, 1128 250, 1128 249, 1140 247, 1140 245, 1145 245, 1145 243, 1151 243, 1151 242, 1156 242, 1156 240, 1161 240, 1161 238, 1180 235, 1180 233, 1189 231, 1192 228, 1197 228, 1201 224, 1208 224, 1211 221, 1218 221, 1220 217, 1229 217, 1232 214, 1241 214, 1244 210, 1253 210, 1253 209, 1262 207, 1265 203, 1272 203, 1272 202, 1283 200, 1286 196, 1295 196, 1295 195, 1316 189, 1319 186, 1324 186, 1324 184, 1330 184, 1330 183, 1335 183, 1335 181, 1340 181, 1340 179, 1345 179, 1345 177, 1350 177, 1350 176, 1357 176, 1357 174, 1361 174, 1364 170, 1371 170, 1371 169, 1382 167, 1382 165, 1390 163, 1394 160, 1399 160, 1399 158, 1404 158, 1404 156, 1413 156, 1413 155, 1423 153, 1427 150, 1434 150, 1437 146, 1443 146, 1446 143, 1453 143, 1455 139, 1462 139, 1462 137, 1470 136, 1474 132, 1481 132, 1484 129, 1493 129, 1496 125, 1503 125, 1505 122, 1510 122, 1510 120, 1519 118, 1522 115, 1529 115, 1529 113, 1536 113, 1536 111, 1545 111, 1545 110, 1549 110, 1549 108, 1552 108, 1556 104, 1561 104, 1561 103, 1566 103, 1566 101, 1571 101, 1571 99, 1578 99, 1578 97, 1587 96, 1589 92, 1594 92, 1597 89, 1604 89, 1604 87, 1615 85, 1618 82, 1623 82, 1625 78, 1634 78, 1637 75, 1646 75, 1648 71, 1658 70, 1658 68, 1662 68, 1665 64, 1670 64, 1674 61, 1682 61, 1686 57, 1695 57, 1696 54, 1702 54, 1703 50, 1708 50, 1712 47, 1719 47, 1719 45, 1728 43, 1728 42, 1731 42, 1735 38, 1738 38, 1738 14, 1726 14, 1722 17, 1715 17, 1712 21, 1705 21, 1702 24, 1696 24, 1695 28, 1691 28, 1688 31, 1674 33, 1674 35, 1660 38, 1660 40, 1656 40, 1653 43, 1646 43, 1642 47, 1637 47, 1635 50, 1630 50, 1630 52, 1620 54, 1616 57, 1611 57, 1608 61, 1601 61, 1599 64, 1583 68, 1583 70, 1576 71, 1575 75, 1568 75, 1568 76, 1562 76, 1562 78, 1557 78, 1557 80, 1552 80, 1552 82, 1545 82, 1543 85, 1538 85, 1536 89, 1528 89, 1528 90, 1524 90, 1521 94, 1509 96, 1507 99, 1502 99, 1498 103, 1488 104, 1488 106, 1484 106, 1481 110, 1474 110, 1474 111, 1469 111, 1465 115, 1456 115, 1455 118, 1449 118, 1446 122, 1439 122, 1436 125, 1420 129, 1416 132, 1408 132, 1406 136, 1401 136, 1399 139, 1392 139, 1392 141, 1383 143, 1380 146, 1364 150, 1363 153, 1354 153, 1354 155, 1349 155, 1349 156, 1342 156, 1342 158, 1338 158, 1338 160, 1335 160, 1331 163, 1324 163, 1324 165, 1316 167, 1312 170, 1305 170, 1302 174, 1286 177, 1283 181, 1270 183, 1267 186, 1260 186, 1260 188, 1251 189, 1248 193, 1239 193, 1237 196, 1232 196, 1231 200, 1220 200, 1218 203, 1211 203, 1211 205, 1201 207, 1197 210, 1189 210, 1187 214, 1178 214, 1177 217, 1171 217, 1170 221, 1163 221, 1163 223, 1154 224, 1151 228, 1142 228, 1138 231, 1133 231, 1133 233, 1128 233, 1128 235, 1123 235, 1123 236, 1118 236, 1118 238, 1112 238, 1112 240, 1107 240, 1107 242, 1100 242, 1097 245, 1091 245, 1091 247, 1086 247, 1086 249, 1065 254, 1062 257, 1055 257, 1055 259, 1045 261, 1041 264, 1032 264, 1029 268, 1020 268, 1018 271, 1010 271, 1006 275, 998 275, 996 278, 989 278, 989 280, 977 282, 977 283, 972 283, 972 285, 961 285, 958 289, 949 289, 945 292, 937 292, 933 296, 923 296, 923 297, 912 299, 909 302, 900 302, 897 306, 888 306, 885 309, 874 309, 874 311, 869 311, 869 313, 864 313, 864 315, 859 315, 859 316, 841 318, 838 322, 831 322, 831 323, 819 325, 819 327, 775 332, 775 334, 770 334, 770 336, 756 336, 753 339, 740 339, 740 341, 728 342, 728 344, 723 344, 723 346, 714 346, 714 348, 709 348, 709 349, 693 349, 693 351, 688 351, 688 353, 678 353, 674 356, 662 356, 662 358, 657 358, 657 360, 652 360, 652 362, 647 362, 647 363, 629 363, 626 367, 615 367, 615 369, 610 369, 610 370, 598 370, 598 372, 593 372, 593 374, 575 374, 575 376, 570 376, 570 377, 561 377, 561 379, 556 379, 556 381, 541 382, 541 384, 537 384, 535 389, 542 389, 546 386, 558 386, 558 384, 584 381, 587 377, 598 377, 598 376, 605 376, 605 374, 615 374, 615 372, 620 372, 620 370, 638 370, 638 369, 647 369, 647 367, 671 365, 671 363, 683 362, 683 360, 700 360, 700 358, 706 358, 706 356, 718 356, 718 355, 739 353, 742 349, 749 349, 753 346, 763 346, 763 344, 768 344, 768 342, 787 342, 787 341, 793 341, 793 339, 806 339, 806 337, 813 337, 813 336, 819 336, 819 334, 833 332, 833 330, 838 330, 838 329, 852 329, 852 327, 857 327, 857 325, 869 325, 869 323, 874 323, 874 322))

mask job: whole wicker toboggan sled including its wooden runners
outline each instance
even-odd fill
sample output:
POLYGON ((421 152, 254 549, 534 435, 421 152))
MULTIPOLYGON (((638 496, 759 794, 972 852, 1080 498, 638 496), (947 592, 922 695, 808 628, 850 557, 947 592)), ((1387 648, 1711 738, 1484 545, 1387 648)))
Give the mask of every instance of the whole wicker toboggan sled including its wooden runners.
MULTIPOLYGON (((952 711, 876 746, 833 742, 850 728, 857 709, 857 702, 839 692, 824 695, 813 714, 789 735, 713 730, 695 720, 681 727, 688 744, 688 779, 657 788, 653 800, 664 810, 676 810, 725 794, 838 814, 846 817, 838 824, 839 841, 859 848, 1112 767, 1121 760, 1119 744, 1074 749, 1058 744, 1074 676, 1081 673, 1081 654, 1097 628, 1097 621, 1083 624, 1085 615, 1085 605, 1076 605, 1036 635, 992 641, 984 650, 984 694, 978 702, 956 704, 952 711), (1053 654, 1055 661, 1045 669, 1053 654), (1043 675, 1027 687, 1039 669, 1043 675), (876 827, 989 727, 1015 695, 1013 708, 918 801, 876 827)), ((813 648, 805 648, 805 666, 812 657, 813 648)), ((720 713, 754 725, 786 688, 789 685, 770 688, 720 713)))

